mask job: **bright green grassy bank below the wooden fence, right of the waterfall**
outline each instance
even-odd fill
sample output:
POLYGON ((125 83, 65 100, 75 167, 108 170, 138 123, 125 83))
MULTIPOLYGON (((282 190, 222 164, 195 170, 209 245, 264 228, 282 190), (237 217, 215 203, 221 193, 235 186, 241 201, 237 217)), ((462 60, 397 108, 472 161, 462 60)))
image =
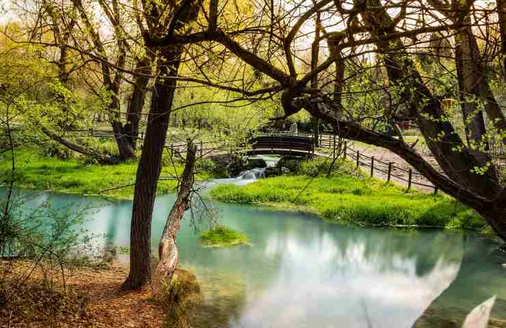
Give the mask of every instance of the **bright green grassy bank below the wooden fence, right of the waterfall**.
MULTIPOLYGON (((258 180, 238 187, 226 184, 211 191, 224 202, 299 206, 321 217, 369 226, 438 226, 485 229, 473 210, 445 195, 428 195, 357 176, 340 163, 329 178, 314 176, 315 165, 298 174, 258 180)), ((325 172, 325 169, 321 170, 325 172)))

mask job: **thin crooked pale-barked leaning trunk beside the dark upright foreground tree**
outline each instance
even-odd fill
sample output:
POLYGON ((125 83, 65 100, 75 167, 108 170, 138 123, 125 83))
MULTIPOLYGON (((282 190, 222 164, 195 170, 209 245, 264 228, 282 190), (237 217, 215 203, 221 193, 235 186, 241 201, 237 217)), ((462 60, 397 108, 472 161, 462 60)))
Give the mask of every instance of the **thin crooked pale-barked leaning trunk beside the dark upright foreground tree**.
POLYGON ((194 186, 194 166, 197 147, 191 141, 187 143, 186 163, 180 180, 180 187, 176 202, 167 217, 165 228, 161 234, 158 246, 159 262, 155 269, 153 287, 155 293, 163 283, 170 282, 178 264, 178 249, 176 247, 176 234, 181 227, 181 219, 191 204, 192 188, 194 186))

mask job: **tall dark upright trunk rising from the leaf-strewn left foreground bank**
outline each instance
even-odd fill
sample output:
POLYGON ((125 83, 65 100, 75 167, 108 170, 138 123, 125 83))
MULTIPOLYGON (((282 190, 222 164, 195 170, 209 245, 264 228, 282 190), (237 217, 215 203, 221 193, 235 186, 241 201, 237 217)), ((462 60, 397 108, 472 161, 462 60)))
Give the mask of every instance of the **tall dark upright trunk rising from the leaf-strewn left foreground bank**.
POLYGON ((146 137, 135 178, 130 230, 130 273, 122 284, 124 290, 142 288, 150 280, 151 219, 176 90, 176 81, 164 77, 176 76, 182 50, 181 46, 174 46, 162 53, 158 78, 153 87, 146 137))

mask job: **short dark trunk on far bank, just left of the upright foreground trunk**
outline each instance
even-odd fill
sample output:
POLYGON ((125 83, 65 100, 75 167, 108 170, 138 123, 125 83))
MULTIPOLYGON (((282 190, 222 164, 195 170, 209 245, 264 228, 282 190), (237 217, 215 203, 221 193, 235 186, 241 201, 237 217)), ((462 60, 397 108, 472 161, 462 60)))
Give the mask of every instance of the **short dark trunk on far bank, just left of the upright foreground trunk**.
POLYGON ((127 109, 127 124, 124 125, 124 131, 127 133, 127 139, 131 147, 135 150, 137 147, 137 137, 139 137, 139 122, 141 120, 144 100, 146 99, 146 86, 149 82, 151 68, 148 62, 142 58, 137 59, 135 64, 135 75, 133 83, 133 92, 127 109))

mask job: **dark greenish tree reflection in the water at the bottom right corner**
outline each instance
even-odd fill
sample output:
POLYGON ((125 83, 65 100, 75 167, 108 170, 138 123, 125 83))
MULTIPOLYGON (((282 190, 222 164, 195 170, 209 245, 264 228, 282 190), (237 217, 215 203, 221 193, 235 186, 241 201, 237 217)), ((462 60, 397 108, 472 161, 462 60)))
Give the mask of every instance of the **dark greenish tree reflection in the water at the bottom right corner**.
POLYGON ((497 295, 488 327, 506 327, 506 256, 483 236, 464 237, 464 257, 452 284, 418 318, 416 328, 461 327, 479 303, 497 295))

